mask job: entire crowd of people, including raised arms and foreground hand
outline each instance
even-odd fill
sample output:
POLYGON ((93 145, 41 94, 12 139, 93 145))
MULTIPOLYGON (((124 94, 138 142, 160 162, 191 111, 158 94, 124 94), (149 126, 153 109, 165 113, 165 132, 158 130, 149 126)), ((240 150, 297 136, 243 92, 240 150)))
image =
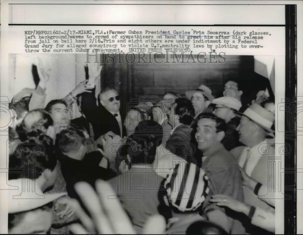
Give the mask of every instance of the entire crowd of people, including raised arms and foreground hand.
POLYGON ((201 84, 130 101, 122 114, 114 88, 97 95, 88 82, 101 67, 85 70, 45 105, 50 78, 39 63, 38 86, 9 104, 9 233, 275 232, 275 103, 266 90, 248 106, 241 80, 218 98, 201 84))

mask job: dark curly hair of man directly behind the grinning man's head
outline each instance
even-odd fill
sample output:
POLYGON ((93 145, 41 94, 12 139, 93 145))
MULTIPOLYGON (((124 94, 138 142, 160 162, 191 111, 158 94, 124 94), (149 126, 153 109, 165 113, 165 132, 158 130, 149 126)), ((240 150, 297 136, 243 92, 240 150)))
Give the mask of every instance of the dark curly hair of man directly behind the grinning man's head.
POLYGON ((179 116, 179 122, 190 125, 195 117, 195 109, 190 100, 178 98, 175 101, 175 114, 179 116))

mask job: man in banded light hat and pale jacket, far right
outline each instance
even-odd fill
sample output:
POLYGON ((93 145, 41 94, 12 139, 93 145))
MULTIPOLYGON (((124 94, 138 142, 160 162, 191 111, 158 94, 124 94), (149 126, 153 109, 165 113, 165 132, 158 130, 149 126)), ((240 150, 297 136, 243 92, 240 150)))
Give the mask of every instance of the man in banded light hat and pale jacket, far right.
MULTIPOLYGON (((268 185, 268 190, 275 188, 275 146, 266 137, 274 133, 271 129, 275 116, 259 104, 254 103, 241 113, 241 121, 237 127, 240 134, 239 141, 245 144, 232 149, 240 167, 245 173, 262 185, 268 185), (266 151, 264 151, 266 149, 266 151)), ((270 192, 270 191, 269 191, 270 192)), ((269 195, 269 194, 268 194, 269 195)), ((264 195, 263 198, 268 198, 264 195)), ((275 209, 258 198, 252 190, 244 187, 245 203, 254 207, 275 213, 275 209)), ((264 234, 266 231, 245 224, 246 232, 250 234, 264 234)))

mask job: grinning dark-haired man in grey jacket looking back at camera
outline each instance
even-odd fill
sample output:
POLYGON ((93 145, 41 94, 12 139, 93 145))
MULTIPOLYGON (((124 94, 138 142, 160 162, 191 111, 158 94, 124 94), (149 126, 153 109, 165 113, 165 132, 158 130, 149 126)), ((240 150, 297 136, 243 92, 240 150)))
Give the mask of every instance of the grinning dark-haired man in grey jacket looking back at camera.
POLYGON ((202 166, 209 178, 210 194, 203 204, 203 214, 213 223, 223 227, 228 233, 241 234, 244 227, 237 214, 229 214, 216 204, 209 202, 214 194, 231 196, 243 201, 241 172, 235 158, 221 144, 225 136, 226 123, 214 114, 198 116, 195 138, 202 151, 202 166), (228 187, 226 187, 228 185, 228 187))

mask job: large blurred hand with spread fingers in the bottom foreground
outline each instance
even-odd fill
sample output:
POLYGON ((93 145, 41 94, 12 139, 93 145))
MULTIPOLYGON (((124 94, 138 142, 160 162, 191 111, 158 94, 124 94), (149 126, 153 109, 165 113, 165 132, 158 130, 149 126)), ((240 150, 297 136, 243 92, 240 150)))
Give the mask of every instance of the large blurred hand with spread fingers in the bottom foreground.
MULTIPOLYGON (((82 222, 70 225, 75 234, 135 234, 127 214, 123 210, 115 192, 107 182, 96 181, 96 191, 86 182, 75 184, 75 190, 88 210, 89 217, 79 204, 74 204, 75 213, 82 222)), ((165 219, 161 215, 151 216, 143 229, 145 234, 163 234, 165 219), (156 226, 155 226, 156 225, 156 226)))

